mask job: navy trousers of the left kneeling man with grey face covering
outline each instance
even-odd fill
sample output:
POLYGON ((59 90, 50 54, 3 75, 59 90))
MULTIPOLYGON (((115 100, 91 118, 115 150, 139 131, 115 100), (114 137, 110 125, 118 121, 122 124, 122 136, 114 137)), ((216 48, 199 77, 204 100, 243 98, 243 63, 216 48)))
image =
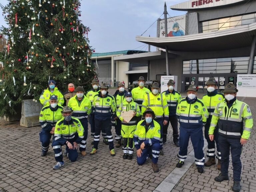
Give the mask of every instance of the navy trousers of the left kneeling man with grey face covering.
MULTIPOLYGON (((57 141, 53 141, 52 142, 52 148, 53 148, 53 151, 54 151, 54 154, 55 154, 55 160, 57 162, 62 162, 63 161, 63 156, 62 156, 62 150, 61 150, 61 146, 65 146, 66 147, 66 150, 67 150, 67 156, 69 158, 69 160, 71 162, 75 162, 77 157, 78 157, 78 153, 77 153, 77 150, 75 149, 69 149, 65 144, 67 140, 66 139, 63 139, 63 138, 60 138, 58 139, 57 141)), ((73 145, 73 142, 72 141, 69 141, 72 145, 73 145)))

